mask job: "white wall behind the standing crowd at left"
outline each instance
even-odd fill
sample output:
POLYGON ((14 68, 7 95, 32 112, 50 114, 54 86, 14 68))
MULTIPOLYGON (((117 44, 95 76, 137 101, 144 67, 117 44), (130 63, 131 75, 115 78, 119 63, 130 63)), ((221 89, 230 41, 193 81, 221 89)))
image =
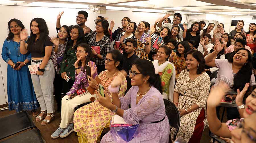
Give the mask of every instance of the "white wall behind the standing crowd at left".
MULTIPOLYGON (((64 11, 64 14, 61 17, 62 25, 73 25, 76 24, 77 12, 82 9, 75 8, 47 8, 47 7, 28 7, 28 6, 0 6, 0 13, 2 13, 0 21, 0 45, 3 45, 3 42, 8 34, 8 21, 12 18, 19 19, 22 21, 24 26, 29 30, 30 21, 33 18, 40 17, 43 18, 49 28, 49 36, 56 35, 56 18, 57 14, 61 11, 64 11)), ((84 9, 83 9, 84 10, 84 9)), ((147 13, 147 12, 131 12, 131 11, 117 11, 117 10, 106 10, 106 14, 96 14, 92 13, 88 9, 85 9, 88 12, 89 16, 86 22, 86 26, 90 29, 95 30, 94 19, 97 16, 107 17, 110 22, 112 19, 115 20, 115 27, 113 30, 121 26, 121 19, 123 17, 129 17, 131 21, 135 21, 137 24, 139 21, 147 21, 150 25, 154 25, 156 19, 163 17, 165 14, 160 13, 147 13)), ((186 18, 186 15, 182 16, 183 19, 186 18)), ((172 18, 171 18, 172 19, 172 18)), ((0 48, 0 53, 2 53, 2 48, 0 48)), ((7 64, 5 61, 0 58, 0 105, 7 102, 7 64), (5 84, 3 86, 3 83, 5 84)))

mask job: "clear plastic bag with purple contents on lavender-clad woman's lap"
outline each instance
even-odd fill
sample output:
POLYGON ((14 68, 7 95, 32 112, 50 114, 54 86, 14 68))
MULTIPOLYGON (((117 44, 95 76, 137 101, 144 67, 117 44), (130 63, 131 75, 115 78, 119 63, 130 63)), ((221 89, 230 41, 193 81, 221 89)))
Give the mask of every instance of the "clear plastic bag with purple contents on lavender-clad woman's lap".
POLYGON ((139 124, 122 127, 112 127, 110 125, 110 132, 116 142, 126 143, 132 140, 135 136, 139 136, 139 124))

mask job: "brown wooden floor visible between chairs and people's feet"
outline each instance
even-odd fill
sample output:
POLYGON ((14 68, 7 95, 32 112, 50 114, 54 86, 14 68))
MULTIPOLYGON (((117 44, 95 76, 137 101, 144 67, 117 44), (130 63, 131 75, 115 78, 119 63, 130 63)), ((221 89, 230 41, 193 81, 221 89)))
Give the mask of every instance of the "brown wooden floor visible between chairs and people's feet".
MULTIPOLYGON (((222 109, 222 108, 221 108, 222 109)), ((55 110, 57 110, 57 105, 55 103, 55 110)), ((15 110, 9 111, 7 110, 2 110, 0 111, 0 118, 8 116, 10 114, 15 113, 15 110)), ((31 112, 30 116, 32 117, 32 119, 36 120, 35 117, 32 116, 31 112)), ((220 113, 222 113, 222 111, 220 110, 220 113)), ((224 122, 226 121, 226 117, 223 120, 224 122)), ((59 127, 59 124, 61 122, 61 113, 54 113, 54 120, 49 123, 48 125, 41 125, 41 122, 36 123, 36 127, 38 127, 38 129, 41 131, 41 134, 44 138, 44 140, 46 141, 46 143, 78 143, 78 139, 77 136, 75 136, 75 132, 71 133, 69 136, 65 137, 65 138, 57 138, 57 139, 52 139, 51 138, 51 134, 59 127)), ((201 138, 201 143, 210 143, 210 137, 209 137, 209 128, 205 129, 201 138)))

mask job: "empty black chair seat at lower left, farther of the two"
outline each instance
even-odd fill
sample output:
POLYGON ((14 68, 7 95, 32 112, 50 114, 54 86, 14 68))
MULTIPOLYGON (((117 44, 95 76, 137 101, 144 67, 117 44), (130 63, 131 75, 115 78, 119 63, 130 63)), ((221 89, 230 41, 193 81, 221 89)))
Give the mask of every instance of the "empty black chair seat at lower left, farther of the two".
POLYGON ((20 111, 0 118, 0 140, 30 128, 37 129, 27 111, 20 111))

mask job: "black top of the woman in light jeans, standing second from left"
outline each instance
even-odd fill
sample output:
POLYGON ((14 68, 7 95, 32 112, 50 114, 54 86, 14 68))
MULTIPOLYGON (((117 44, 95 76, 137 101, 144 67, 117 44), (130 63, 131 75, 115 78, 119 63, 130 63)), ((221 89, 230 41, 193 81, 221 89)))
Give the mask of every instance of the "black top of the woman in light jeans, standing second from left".
MULTIPOLYGON (((38 41, 40 38, 38 38, 36 41, 38 41)), ((47 36, 44 40, 44 45, 41 45, 39 42, 33 41, 32 44, 28 44, 28 51, 31 53, 31 57, 34 58, 42 58, 44 57, 44 51, 46 46, 52 46, 53 43, 50 41, 50 37, 47 36), (44 49, 42 49, 44 48, 44 49)), ((31 37, 28 38, 26 43, 29 43, 31 40, 31 37)))

